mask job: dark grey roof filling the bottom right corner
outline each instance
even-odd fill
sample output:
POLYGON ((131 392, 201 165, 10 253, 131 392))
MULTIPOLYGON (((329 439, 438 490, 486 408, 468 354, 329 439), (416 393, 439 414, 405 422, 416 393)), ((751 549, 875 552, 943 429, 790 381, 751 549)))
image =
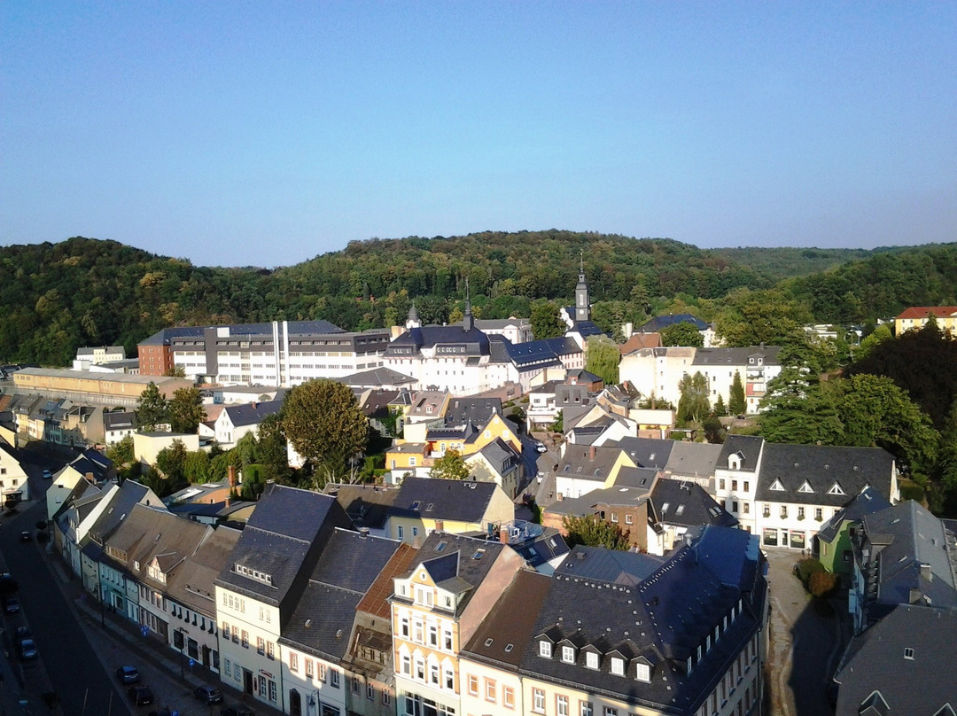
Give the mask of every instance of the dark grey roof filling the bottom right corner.
POLYGON ((835 674, 835 715, 858 716, 877 690, 889 714, 944 716, 945 704, 957 708, 955 662, 957 612, 901 605, 851 641, 835 674))

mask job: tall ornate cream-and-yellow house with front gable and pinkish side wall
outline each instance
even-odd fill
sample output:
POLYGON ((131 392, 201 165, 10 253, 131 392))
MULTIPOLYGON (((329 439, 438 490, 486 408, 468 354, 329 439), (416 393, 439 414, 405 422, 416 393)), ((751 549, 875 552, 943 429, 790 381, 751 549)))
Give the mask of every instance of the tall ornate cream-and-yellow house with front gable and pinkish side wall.
MULTIPOLYGON (((392 659, 400 716, 462 713, 458 654, 523 571, 498 542, 434 532, 393 580, 392 659)), ((467 687, 467 686, 466 686, 467 687)))

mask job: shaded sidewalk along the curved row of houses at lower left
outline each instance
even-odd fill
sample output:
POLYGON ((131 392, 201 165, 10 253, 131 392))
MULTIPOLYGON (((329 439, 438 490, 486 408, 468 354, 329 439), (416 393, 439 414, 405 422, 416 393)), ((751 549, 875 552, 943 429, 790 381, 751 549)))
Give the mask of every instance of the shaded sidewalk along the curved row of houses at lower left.
MULTIPOLYGON (((219 674, 200 664, 189 666, 189 658, 173 650, 158 638, 144 638, 139 625, 130 620, 108 611, 101 613, 100 603, 83 589, 77 577, 72 576, 69 567, 63 562, 56 549, 52 549, 51 552, 45 549, 42 551, 44 561, 56 575, 56 583, 60 591, 67 597, 78 616, 80 627, 100 654, 100 659, 102 660, 108 654, 128 652, 136 655, 138 663, 152 666, 166 677, 165 684, 149 684, 156 698, 155 705, 151 708, 179 705, 178 710, 181 716, 187 716, 188 713, 218 714, 221 708, 240 703, 242 693, 220 681, 219 674), (202 684, 219 688, 226 697, 223 703, 205 706, 195 701, 192 691, 202 684)), ((104 666, 112 668, 112 665, 105 661, 104 666)), ((282 716, 282 712, 278 709, 260 704, 252 697, 247 697, 246 701, 258 716, 282 716)))

